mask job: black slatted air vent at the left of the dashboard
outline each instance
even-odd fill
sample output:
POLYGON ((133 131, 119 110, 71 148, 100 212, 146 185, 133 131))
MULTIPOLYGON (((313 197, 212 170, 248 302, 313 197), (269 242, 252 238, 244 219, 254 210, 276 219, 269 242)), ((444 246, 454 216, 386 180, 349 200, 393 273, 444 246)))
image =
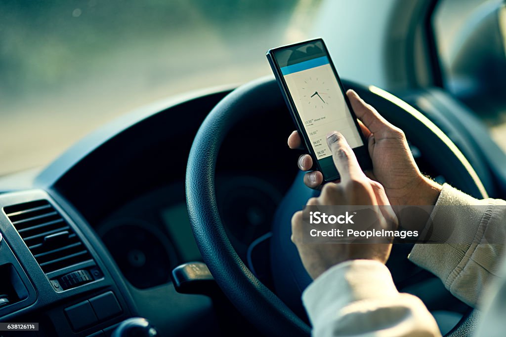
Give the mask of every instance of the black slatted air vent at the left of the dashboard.
POLYGON ((46 274, 92 260, 77 234, 47 200, 8 206, 4 212, 46 274))

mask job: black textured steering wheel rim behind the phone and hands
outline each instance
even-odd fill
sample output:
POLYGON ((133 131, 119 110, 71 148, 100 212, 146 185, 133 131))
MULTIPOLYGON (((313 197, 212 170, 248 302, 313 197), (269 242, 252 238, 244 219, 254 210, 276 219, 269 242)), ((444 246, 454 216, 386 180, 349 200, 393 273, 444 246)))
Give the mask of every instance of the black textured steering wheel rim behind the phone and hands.
MULTIPOLYGON (((343 85, 353 88, 387 120, 403 129, 407 138, 453 186, 476 198, 487 197, 467 159, 423 114, 379 88, 350 81, 343 81, 343 85)), ((266 335, 309 336, 310 326, 241 261, 225 233, 215 195, 215 166, 225 136, 243 118, 276 107, 280 111, 286 109, 278 84, 271 77, 238 87, 215 106, 193 140, 186 171, 186 201, 202 258, 239 312, 266 335)), ((448 335, 468 335, 475 324, 476 314, 469 313, 448 335)))

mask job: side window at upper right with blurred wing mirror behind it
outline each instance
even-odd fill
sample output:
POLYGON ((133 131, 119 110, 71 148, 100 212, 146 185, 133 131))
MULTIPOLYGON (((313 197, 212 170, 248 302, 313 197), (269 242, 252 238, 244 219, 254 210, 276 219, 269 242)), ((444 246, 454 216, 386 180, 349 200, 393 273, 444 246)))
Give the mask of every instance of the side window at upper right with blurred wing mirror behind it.
POLYGON ((506 150, 506 7, 500 0, 440 0, 433 16, 445 88, 506 150))

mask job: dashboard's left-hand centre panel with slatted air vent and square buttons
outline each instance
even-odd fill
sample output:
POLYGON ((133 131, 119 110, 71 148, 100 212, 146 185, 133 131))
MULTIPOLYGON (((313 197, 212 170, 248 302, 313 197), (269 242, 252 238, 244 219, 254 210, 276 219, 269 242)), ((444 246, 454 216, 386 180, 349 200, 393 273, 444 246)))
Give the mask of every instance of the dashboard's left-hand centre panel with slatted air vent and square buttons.
POLYGON ((2 335, 72 335, 92 327, 110 334, 133 315, 125 283, 78 217, 40 189, 4 194, 0 205, 0 316, 38 324, 38 331, 2 335))

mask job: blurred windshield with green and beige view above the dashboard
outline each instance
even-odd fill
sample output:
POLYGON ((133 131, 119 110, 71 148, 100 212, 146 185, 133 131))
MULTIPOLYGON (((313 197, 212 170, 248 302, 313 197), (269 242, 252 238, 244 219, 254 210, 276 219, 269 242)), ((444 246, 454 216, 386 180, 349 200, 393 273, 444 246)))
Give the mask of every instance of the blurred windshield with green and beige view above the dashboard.
POLYGON ((319 0, 0 2, 0 175, 139 106, 270 74, 319 0))

